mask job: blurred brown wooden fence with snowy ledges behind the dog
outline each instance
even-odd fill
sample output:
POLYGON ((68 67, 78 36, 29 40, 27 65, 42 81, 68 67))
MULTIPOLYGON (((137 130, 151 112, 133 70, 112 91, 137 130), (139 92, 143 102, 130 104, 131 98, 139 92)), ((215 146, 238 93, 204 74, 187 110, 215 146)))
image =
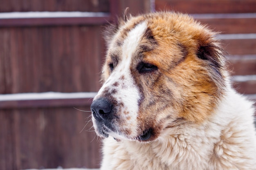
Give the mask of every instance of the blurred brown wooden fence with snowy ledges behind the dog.
POLYGON ((102 26, 126 7, 189 13, 220 31, 234 87, 256 101, 256 0, 0 0, 1 170, 99 168, 81 110, 101 86, 102 26))

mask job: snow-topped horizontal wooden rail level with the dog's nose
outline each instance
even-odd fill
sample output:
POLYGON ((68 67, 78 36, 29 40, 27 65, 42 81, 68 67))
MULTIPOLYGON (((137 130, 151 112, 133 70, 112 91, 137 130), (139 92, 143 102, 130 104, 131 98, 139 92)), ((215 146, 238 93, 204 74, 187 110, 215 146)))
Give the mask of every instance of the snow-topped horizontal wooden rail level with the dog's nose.
POLYGON ((97 93, 20 93, 0 95, 0 109, 90 106, 97 93))

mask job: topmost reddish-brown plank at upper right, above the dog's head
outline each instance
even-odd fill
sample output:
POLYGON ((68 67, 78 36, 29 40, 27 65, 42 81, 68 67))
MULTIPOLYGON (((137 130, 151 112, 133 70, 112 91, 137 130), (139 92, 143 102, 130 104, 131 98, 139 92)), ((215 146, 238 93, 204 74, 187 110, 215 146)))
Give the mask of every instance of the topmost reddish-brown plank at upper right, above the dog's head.
POLYGON ((157 11, 183 13, 255 13, 255 0, 155 0, 157 11))

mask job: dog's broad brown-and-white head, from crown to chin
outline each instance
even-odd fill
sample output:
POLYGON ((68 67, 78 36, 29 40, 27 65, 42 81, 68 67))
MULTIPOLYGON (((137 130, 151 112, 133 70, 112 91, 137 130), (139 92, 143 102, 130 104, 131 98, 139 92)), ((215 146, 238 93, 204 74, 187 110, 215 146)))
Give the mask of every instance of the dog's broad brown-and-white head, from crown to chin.
POLYGON ((152 141, 166 128, 214 114, 225 77, 209 29, 163 12, 120 21, 104 36, 104 84, 91 106, 98 135, 152 141))

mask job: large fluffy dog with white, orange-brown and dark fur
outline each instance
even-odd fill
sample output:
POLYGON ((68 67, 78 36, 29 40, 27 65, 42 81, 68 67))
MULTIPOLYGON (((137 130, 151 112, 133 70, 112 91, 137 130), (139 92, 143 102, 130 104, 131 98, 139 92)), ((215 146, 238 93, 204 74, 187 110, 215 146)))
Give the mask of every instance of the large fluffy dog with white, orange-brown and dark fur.
POLYGON ((91 105, 101 170, 256 170, 253 102, 231 87, 216 35, 171 11, 108 26, 91 105))

